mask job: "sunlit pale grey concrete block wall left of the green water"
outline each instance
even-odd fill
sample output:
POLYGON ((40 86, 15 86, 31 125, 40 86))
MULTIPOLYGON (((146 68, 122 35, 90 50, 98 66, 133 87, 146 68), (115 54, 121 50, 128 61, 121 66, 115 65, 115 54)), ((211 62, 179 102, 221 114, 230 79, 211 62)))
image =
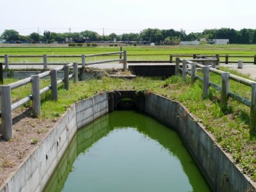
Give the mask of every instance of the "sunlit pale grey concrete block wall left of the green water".
POLYGON ((77 129, 108 113, 108 93, 77 102, 0 191, 42 191, 77 129))

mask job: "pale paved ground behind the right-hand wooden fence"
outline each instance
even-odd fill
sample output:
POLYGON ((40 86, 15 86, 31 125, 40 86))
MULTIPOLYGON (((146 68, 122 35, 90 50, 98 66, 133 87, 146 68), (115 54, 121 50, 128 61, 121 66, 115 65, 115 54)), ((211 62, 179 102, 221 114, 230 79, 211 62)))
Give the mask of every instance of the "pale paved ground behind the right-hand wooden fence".
POLYGON ((253 80, 256 81, 256 65, 243 64, 243 68, 237 68, 237 64, 220 64, 220 66, 231 68, 232 70, 236 70, 241 74, 248 74, 253 80))

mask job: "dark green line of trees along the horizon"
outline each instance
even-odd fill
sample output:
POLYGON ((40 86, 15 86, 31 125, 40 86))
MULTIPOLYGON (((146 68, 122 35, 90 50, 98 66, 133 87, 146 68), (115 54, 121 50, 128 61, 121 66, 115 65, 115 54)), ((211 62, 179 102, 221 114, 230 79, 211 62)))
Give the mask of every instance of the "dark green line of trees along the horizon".
POLYGON ((90 42, 100 41, 146 41, 156 44, 178 44, 180 41, 201 40, 202 38, 214 39, 225 38, 229 39, 230 44, 256 44, 256 29, 241 29, 235 30, 230 28, 221 29, 204 29, 203 32, 186 33, 183 29, 175 31, 174 29, 143 29, 140 33, 123 33, 116 35, 99 35, 95 31, 81 31, 75 33, 54 33, 44 31, 43 35, 31 33, 24 36, 19 35, 14 29, 6 29, 1 34, 0 38, 6 41, 33 41, 33 42, 65 42, 68 39, 77 40, 84 39, 90 42))

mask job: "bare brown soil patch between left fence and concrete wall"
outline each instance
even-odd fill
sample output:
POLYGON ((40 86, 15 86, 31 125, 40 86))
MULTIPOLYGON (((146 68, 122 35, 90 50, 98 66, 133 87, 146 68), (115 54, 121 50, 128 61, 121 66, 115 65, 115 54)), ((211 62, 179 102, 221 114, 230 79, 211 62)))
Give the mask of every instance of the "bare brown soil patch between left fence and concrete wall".
POLYGON ((0 134, 0 189, 40 145, 57 121, 33 118, 31 109, 17 109, 12 117, 12 140, 3 140, 0 134))

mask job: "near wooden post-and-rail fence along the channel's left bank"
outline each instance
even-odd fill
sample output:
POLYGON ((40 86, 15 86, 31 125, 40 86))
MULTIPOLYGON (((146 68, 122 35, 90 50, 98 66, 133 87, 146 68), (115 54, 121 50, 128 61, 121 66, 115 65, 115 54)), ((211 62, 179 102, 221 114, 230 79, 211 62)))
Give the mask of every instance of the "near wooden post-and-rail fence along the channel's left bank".
POLYGON ((41 102, 40 95, 51 90, 51 99, 58 100, 58 84, 63 82, 63 87, 65 90, 69 88, 69 79, 74 79, 74 83, 78 81, 78 67, 77 63, 70 63, 62 67, 51 69, 50 71, 43 72, 41 74, 22 79, 15 83, 1 85, 0 86, 0 101, 1 101, 1 125, 2 125, 2 136, 5 140, 12 138, 12 111, 16 108, 19 108, 29 100, 32 100, 32 111, 33 116, 41 115, 41 102), (73 73, 69 74, 69 69, 73 68, 73 73), (57 72, 63 70, 64 78, 57 79, 57 72), (46 86, 40 90, 39 80, 43 77, 51 77, 51 85, 46 86), (31 83, 31 95, 24 97, 23 99, 18 100, 15 103, 12 103, 11 90, 24 86, 31 83))

